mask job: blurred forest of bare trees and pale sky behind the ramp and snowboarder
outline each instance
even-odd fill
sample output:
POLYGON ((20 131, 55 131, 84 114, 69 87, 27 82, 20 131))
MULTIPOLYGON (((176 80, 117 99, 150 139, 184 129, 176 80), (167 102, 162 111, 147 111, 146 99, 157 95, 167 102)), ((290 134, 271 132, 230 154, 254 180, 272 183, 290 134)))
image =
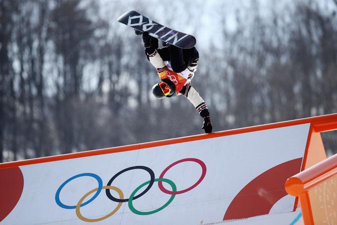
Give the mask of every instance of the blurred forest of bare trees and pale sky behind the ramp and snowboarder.
POLYGON ((196 36, 213 131, 337 112, 337 0, 0 0, 0 162, 203 133, 184 97, 152 96, 129 10, 196 36))

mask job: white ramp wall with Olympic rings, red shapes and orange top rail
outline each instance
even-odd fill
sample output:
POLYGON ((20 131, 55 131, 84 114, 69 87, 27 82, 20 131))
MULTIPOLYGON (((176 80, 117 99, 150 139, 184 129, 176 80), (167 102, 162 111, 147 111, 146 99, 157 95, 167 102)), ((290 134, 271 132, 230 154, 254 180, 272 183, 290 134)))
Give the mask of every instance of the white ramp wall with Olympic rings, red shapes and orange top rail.
POLYGON ((0 224, 294 224, 337 114, 0 164, 0 224))

